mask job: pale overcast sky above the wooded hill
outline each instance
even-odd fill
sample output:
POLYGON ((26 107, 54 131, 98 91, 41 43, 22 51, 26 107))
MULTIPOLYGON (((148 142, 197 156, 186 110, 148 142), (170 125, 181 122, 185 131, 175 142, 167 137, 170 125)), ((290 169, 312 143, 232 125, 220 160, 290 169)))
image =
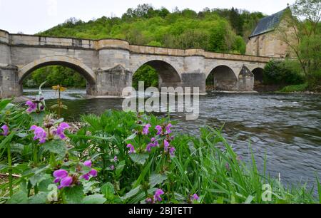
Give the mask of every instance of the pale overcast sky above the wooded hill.
POLYGON ((165 6, 172 11, 193 9, 230 9, 233 6, 248 11, 274 14, 285 9, 295 0, 0 0, 0 29, 10 33, 34 34, 76 17, 88 21, 101 16, 121 16, 128 8, 138 4, 152 4, 155 8, 165 6))

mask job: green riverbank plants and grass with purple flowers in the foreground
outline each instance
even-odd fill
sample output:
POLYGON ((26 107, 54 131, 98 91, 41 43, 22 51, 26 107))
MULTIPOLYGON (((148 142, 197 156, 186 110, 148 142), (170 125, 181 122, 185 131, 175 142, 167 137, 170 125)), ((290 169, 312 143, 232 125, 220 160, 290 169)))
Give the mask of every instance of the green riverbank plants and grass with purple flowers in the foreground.
POLYGON ((108 110, 66 134, 67 123, 28 105, 0 102, 0 172, 10 179, 2 203, 317 202, 261 175, 254 157, 245 164, 220 130, 175 135, 169 120, 108 110))

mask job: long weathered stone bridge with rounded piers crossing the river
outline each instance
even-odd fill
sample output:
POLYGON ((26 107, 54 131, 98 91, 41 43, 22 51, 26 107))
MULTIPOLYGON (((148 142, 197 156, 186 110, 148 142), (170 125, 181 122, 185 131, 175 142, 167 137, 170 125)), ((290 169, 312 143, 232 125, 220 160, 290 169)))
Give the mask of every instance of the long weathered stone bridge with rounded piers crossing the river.
POLYGON ((0 98, 22 95, 22 82, 37 68, 60 65, 86 78, 87 94, 119 96, 133 74, 148 64, 161 87, 199 87, 212 73, 220 90, 253 90, 270 58, 130 45, 118 39, 79 39, 11 34, 0 30, 0 98))

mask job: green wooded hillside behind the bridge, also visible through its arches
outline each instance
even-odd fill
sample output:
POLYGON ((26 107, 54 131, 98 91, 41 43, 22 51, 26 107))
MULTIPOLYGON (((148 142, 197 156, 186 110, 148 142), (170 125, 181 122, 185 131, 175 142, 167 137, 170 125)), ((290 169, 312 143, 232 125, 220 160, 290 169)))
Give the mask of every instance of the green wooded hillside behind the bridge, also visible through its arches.
MULTIPOLYGON (((196 12, 190 9, 168 11, 164 7, 154 9, 149 4, 128 9, 121 18, 103 16, 84 22, 71 18, 63 24, 38 33, 41 36, 63 36, 75 38, 120 38, 131 44, 161 46, 166 48, 203 48, 206 51, 244 54, 246 42, 258 21, 264 17, 260 12, 240 9, 208 9, 196 12)), ((25 88, 35 88, 41 81, 47 86, 61 85, 82 88, 86 81, 79 76, 61 76, 72 73, 71 69, 47 66, 40 68, 24 81, 25 88), (63 79, 63 78, 66 78, 63 79)), ((141 75, 148 73, 151 84, 158 85, 158 75, 149 66, 142 66, 135 73, 133 86, 138 84, 141 75)), ((76 75, 76 73, 75 73, 76 75)))

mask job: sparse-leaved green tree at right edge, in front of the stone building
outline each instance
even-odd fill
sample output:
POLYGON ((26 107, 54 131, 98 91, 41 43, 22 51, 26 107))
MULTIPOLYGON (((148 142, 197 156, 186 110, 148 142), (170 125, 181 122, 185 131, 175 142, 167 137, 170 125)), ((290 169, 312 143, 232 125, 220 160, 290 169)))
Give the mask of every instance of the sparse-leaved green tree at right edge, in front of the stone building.
POLYGON ((297 0, 282 19, 275 36, 291 48, 308 77, 320 65, 319 56, 314 56, 313 52, 320 52, 321 1, 297 0))

